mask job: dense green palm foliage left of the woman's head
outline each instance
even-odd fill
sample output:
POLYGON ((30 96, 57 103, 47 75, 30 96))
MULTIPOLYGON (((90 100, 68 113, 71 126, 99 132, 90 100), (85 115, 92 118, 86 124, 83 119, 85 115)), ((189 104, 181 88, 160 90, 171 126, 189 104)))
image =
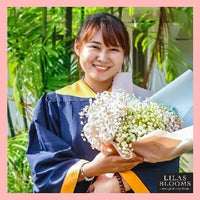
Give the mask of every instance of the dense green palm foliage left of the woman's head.
POLYGON ((43 93, 77 79, 76 62, 70 55, 72 47, 65 46, 71 38, 64 38, 64 23, 59 21, 64 8, 51 8, 48 12, 47 8, 8 11, 8 85, 13 87, 22 113, 22 103, 26 102, 22 98, 32 96, 36 102, 43 93))

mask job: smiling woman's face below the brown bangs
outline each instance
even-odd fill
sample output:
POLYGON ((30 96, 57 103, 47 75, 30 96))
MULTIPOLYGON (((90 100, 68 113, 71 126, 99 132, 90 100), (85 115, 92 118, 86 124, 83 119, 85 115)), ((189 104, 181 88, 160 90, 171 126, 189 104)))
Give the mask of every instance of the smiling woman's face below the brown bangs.
POLYGON ((79 56, 87 83, 112 82, 123 65, 124 50, 120 46, 105 46, 101 30, 81 47, 75 43, 75 52, 79 56))

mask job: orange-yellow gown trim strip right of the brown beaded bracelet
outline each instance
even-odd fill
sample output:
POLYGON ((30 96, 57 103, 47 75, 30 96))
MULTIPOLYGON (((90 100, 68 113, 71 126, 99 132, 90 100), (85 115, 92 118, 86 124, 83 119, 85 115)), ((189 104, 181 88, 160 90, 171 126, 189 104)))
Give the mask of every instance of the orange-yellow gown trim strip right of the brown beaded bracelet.
POLYGON ((140 178, 131 170, 120 172, 120 175, 135 193, 150 193, 140 178))

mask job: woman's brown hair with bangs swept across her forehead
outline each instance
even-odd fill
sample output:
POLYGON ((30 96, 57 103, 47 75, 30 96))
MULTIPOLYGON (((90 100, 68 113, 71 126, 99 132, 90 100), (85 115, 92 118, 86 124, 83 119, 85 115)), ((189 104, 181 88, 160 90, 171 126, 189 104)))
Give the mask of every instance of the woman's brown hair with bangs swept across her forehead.
POLYGON ((108 13, 94 14, 85 20, 77 35, 79 45, 88 42, 100 29, 106 46, 120 45, 124 56, 129 56, 130 44, 126 27, 120 19, 108 13))

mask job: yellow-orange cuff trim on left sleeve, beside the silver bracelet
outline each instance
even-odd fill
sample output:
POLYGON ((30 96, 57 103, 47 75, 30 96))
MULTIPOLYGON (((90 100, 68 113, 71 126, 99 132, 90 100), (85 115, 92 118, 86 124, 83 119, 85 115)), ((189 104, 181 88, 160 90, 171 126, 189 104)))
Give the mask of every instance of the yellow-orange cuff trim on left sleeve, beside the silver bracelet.
POLYGON ((72 167, 69 168, 65 179, 62 184, 62 188, 60 190, 60 193, 73 193, 74 189, 76 187, 78 176, 80 172, 80 168, 83 163, 88 162, 87 160, 79 160, 76 164, 72 165, 72 167))

